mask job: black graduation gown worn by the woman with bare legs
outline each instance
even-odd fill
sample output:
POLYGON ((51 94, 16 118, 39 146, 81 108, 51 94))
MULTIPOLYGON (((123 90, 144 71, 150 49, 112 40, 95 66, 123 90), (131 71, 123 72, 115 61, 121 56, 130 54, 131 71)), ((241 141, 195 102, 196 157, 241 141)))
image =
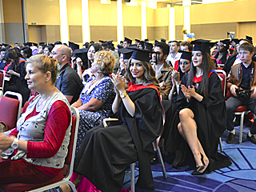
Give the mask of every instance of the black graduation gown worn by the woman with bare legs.
MULTIPOLYGON (((182 78, 182 85, 186 84, 188 74, 182 78)), ((201 82, 198 82, 200 85, 201 82)), ((195 83, 193 83, 195 86, 195 83)), ((226 166, 230 166, 230 159, 223 154, 218 153, 218 141, 226 129, 226 104, 223 96, 222 86, 218 74, 210 72, 209 74, 209 97, 203 98, 202 102, 198 102, 195 98, 191 98, 190 102, 186 102, 186 97, 182 90, 178 93, 177 105, 178 110, 174 114, 173 122, 170 127, 169 138, 166 143, 166 150, 175 153, 176 157, 173 166, 178 168, 181 166, 195 167, 194 156, 190 147, 182 136, 178 133, 179 111, 183 108, 190 108, 194 112, 194 120, 198 126, 197 134, 199 142, 210 160, 207 171, 218 170, 226 166)), ((198 90, 196 89, 198 93, 198 90)), ((200 93, 199 93, 200 94, 200 93)), ((202 95, 202 94, 201 94, 202 95)))

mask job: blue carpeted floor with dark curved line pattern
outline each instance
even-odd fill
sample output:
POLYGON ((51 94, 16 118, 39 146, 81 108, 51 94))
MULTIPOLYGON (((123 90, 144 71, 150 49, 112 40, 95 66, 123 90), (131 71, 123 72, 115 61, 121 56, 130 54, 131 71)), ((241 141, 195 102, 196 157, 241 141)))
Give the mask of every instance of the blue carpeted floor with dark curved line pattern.
MULTIPOLYGON (((224 154, 231 159, 231 166, 210 174, 192 176, 193 170, 188 170, 188 167, 176 170, 166 163, 172 157, 164 156, 168 178, 163 178, 159 163, 151 166, 154 176, 154 191, 256 191, 256 145, 246 140, 248 127, 244 126, 242 143, 238 143, 239 126, 236 126, 235 130, 237 136, 233 144, 226 144, 227 131, 222 135, 224 154)), ((135 175, 138 178, 138 168, 135 170, 135 175)), ((129 170, 126 172, 124 188, 130 188, 129 170)), ((142 192, 140 189, 136 189, 136 191, 142 192)))

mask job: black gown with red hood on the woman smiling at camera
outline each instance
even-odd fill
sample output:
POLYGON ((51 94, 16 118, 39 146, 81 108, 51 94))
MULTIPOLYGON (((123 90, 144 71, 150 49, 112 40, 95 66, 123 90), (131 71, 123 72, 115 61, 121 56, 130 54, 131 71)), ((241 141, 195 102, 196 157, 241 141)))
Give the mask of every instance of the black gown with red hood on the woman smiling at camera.
POLYGON ((152 142, 163 130, 162 105, 156 86, 132 85, 127 94, 135 104, 131 117, 121 102, 120 125, 95 127, 86 137, 74 162, 74 172, 84 175, 102 192, 118 192, 127 165, 138 161, 136 186, 154 190, 150 159, 154 157, 152 142))

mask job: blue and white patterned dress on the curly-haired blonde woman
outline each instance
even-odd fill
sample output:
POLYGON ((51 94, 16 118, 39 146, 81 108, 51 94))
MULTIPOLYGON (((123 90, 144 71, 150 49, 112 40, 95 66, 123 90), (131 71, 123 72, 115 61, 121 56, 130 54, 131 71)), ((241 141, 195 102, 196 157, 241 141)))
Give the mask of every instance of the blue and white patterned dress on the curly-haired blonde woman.
POLYGON ((80 94, 82 105, 86 102, 90 102, 91 98, 97 98, 104 102, 103 106, 98 110, 91 112, 87 110, 79 110, 80 120, 78 129, 78 141, 76 146, 76 154, 82 145, 83 139, 85 138, 86 131, 99 126, 104 118, 108 118, 112 103, 114 102, 115 91, 114 84, 111 82, 111 78, 106 76, 102 78, 92 90, 90 90, 90 83, 95 78, 88 78, 85 87, 80 94))

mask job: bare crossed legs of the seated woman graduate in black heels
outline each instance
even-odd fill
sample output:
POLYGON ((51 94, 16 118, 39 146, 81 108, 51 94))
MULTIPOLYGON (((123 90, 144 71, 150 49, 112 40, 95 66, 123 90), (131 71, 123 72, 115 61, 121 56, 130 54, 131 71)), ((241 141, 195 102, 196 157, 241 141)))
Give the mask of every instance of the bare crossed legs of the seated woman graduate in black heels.
MULTIPOLYGON (((201 154, 203 155, 203 161, 205 163, 205 169, 209 164, 209 159, 206 157, 202 145, 198 140, 197 125, 194 121, 194 113, 190 109, 183 109, 179 113, 180 123, 178 124, 178 131, 190 146, 190 150, 194 155, 194 161, 196 166, 203 166, 201 161, 201 154)), ((204 170, 205 170, 204 169, 204 170)), ((203 172, 202 170, 201 172, 203 172)))

